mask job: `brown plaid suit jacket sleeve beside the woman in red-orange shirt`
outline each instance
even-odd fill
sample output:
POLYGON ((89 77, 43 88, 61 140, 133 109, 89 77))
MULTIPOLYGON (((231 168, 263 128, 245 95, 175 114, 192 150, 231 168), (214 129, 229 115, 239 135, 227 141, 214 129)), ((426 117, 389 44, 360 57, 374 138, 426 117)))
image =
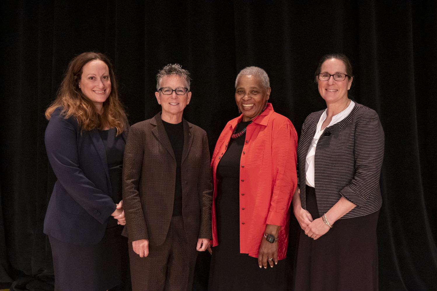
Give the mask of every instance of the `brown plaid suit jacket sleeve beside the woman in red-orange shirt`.
POLYGON ((202 161, 198 179, 200 204, 200 229, 198 239, 212 239, 211 206, 212 206, 212 174, 210 167, 208 137, 204 132, 202 139, 202 161))

